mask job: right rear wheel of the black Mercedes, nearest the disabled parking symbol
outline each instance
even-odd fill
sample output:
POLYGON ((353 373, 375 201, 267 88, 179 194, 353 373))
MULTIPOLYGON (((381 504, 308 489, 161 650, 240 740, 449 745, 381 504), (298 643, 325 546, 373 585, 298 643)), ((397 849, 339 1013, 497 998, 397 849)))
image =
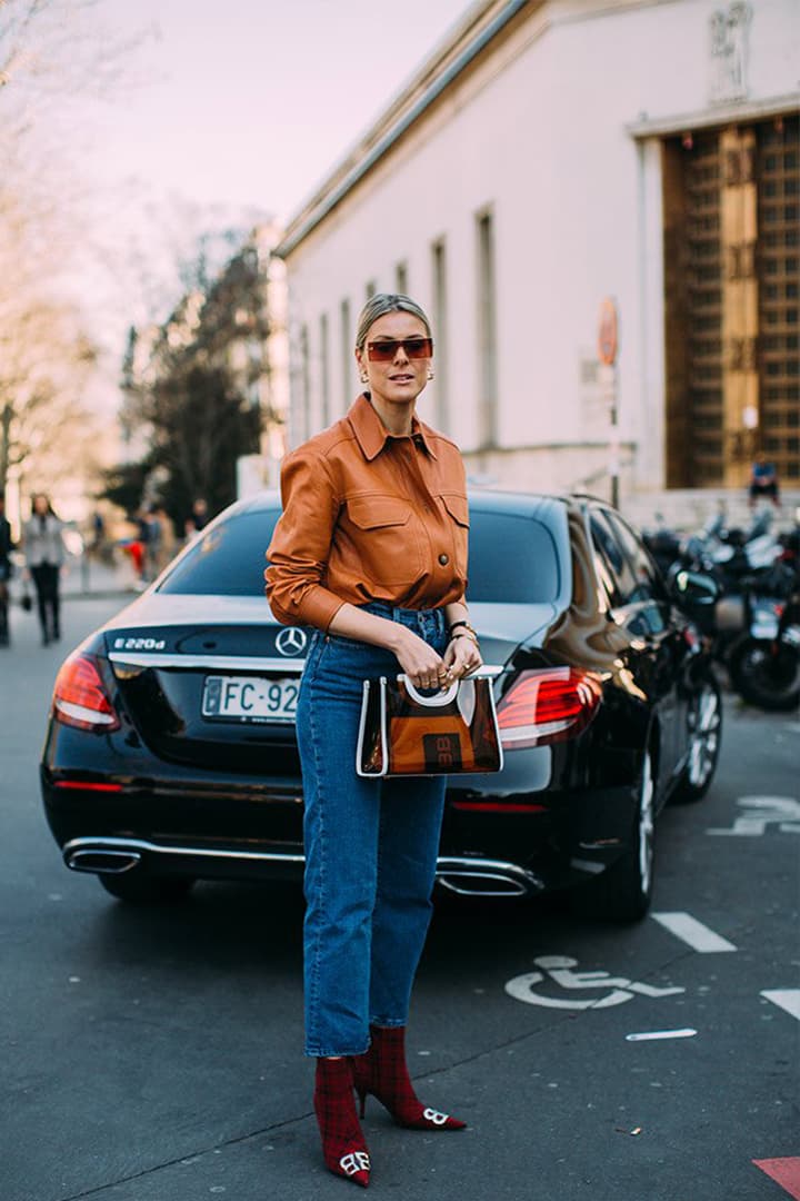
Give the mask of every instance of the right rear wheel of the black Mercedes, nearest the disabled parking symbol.
POLYGON ((577 912, 601 921, 640 921, 652 897, 655 831, 655 763, 648 748, 642 758, 631 844, 596 880, 576 890, 577 912))

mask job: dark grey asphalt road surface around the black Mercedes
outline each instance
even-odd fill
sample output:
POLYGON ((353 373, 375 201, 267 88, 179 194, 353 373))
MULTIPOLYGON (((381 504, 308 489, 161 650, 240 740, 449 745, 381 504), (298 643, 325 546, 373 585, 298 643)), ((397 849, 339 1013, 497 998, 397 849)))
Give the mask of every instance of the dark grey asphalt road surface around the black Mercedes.
MULTIPOLYGON (((73 600, 47 650, 17 611, 0 652, 0 1197, 355 1196, 325 1171, 311 1110, 296 891, 207 884, 132 909, 61 865, 37 788, 49 689, 113 608, 73 600)), ((441 907, 410 1063, 422 1099, 469 1129, 404 1131, 371 1099, 373 1194, 800 1197, 800 724, 733 700, 726 716, 711 794, 662 815, 654 913, 727 949, 690 945, 685 919, 441 907)))

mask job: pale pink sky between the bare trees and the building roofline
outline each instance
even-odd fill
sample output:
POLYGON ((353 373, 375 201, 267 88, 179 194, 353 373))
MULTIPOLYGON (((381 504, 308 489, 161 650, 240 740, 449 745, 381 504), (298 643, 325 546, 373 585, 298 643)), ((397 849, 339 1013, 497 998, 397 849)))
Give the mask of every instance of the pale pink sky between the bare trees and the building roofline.
POLYGON ((104 0, 151 82, 96 106, 98 180, 288 217, 471 0, 104 0))

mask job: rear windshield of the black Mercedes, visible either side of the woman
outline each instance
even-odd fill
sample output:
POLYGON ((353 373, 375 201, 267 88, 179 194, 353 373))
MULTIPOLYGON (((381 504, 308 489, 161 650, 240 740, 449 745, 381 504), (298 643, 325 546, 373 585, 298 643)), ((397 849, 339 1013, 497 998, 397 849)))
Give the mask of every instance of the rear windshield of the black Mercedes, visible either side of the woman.
MULTIPOLYGON (((263 596, 264 551, 278 509, 240 513, 199 534, 160 592, 263 596)), ((561 585, 553 534, 543 521, 516 513, 470 513, 470 600, 531 604, 555 600, 561 585)))

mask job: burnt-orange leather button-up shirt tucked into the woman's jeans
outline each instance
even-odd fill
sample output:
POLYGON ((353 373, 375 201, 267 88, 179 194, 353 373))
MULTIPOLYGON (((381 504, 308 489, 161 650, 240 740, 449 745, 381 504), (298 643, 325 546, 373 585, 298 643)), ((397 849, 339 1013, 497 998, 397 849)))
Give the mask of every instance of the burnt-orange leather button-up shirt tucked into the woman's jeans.
POLYGON ((326 629, 345 600, 434 609, 467 586, 464 465, 416 417, 389 432, 367 395, 283 460, 283 515, 264 573, 285 625, 326 629))

